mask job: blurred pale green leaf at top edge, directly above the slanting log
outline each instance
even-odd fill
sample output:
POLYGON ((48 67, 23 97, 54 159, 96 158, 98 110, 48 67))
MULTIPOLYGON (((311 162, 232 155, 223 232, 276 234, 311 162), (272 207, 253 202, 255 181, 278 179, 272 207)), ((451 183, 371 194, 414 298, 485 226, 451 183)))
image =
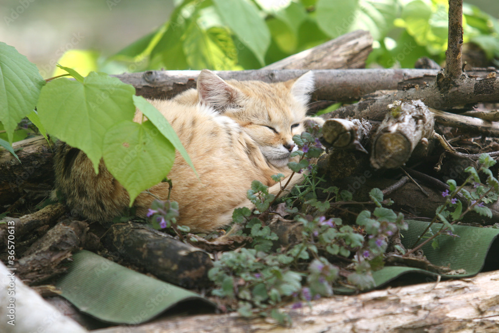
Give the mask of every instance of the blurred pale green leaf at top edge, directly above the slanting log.
POLYGON ((359 0, 318 0, 317 24, 330 37, 338 37, 349 31, 359 7, 359 0))

